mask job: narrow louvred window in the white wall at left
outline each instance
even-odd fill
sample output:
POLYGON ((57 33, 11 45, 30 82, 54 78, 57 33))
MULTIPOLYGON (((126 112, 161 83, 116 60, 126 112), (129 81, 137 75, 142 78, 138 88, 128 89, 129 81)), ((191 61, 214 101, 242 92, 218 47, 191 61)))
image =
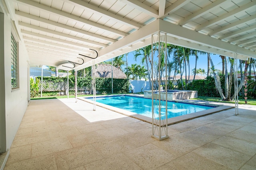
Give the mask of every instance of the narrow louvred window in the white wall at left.
POLYGON ((11 69, 12 69, 12 89, 19 88, 19 74, 18 74, 18 68, 19 68, 19 63, 18 63, 18 46, 17 42, 14 39, 14 36, 11 35, 11 49, 12 49, 12 59, 11 59, 11 69))

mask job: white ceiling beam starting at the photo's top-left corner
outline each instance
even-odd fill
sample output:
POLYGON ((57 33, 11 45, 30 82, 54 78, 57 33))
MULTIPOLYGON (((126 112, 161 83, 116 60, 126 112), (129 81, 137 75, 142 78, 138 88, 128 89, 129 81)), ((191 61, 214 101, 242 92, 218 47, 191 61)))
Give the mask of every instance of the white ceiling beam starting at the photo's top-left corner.
POLYGON ((31 7, 31 8, 38 9, 40 11, 48 12, 50 14, 53 14, 53 15, 56 15, 56 16, 59 16, 59 17, 62 17, 62 18, 66 18, 68 20, 76 21, 76 22, 79 22, 81 24, 86 24, 88 26, 97 27, 99 29, 103 29, 105 31, 108 31, 108 32, 114 33, 116 35, 119 35, 121 37, 125 37, 127 35, 126 33, 123 33, 122 31, 118 31, 116 29, 112 29, 110 27, 106 27, 104 25, 94 23, 92 21, 80 18, 78 16, 74 16, 72 14, 68 14, 66 12, 62 12, 60 10, 56 10, 54 8, 51 8, 49 6, 45 6, 43 4, 39 4, 39 3, 31 1, 31 0, 14 0, 14 2, 17 2, 18 4, 23 4, 23 5, 31 7))

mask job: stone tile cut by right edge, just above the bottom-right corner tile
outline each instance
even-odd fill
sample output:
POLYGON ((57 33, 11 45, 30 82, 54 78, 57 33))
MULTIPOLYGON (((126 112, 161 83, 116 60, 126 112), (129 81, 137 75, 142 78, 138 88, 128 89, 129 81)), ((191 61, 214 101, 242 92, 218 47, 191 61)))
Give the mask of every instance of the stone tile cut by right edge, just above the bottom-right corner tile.
POLYGON ((242 152, 244 154, 248 154, 253 156, 256 154, 256 144, 244 141, 242 139, 236 139, 233 137, 221 137, 212 143, 220 145, 222 147, 226 147, 232 150, 236 150, 238 152, 242 152))

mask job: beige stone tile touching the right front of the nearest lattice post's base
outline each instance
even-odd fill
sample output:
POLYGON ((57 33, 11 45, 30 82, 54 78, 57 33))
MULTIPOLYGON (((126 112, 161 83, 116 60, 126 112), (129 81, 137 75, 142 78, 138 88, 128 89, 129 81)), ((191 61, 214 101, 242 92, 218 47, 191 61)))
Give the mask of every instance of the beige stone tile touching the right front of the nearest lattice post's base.
POLYGON ((163 141, 154 141, 152 144, 167 152, 170 152, 176 157, 182 156, 199 147, 198 145, 194 145, 188 141, 183 141, 175 136, 170 136, 170 138, 164 139, 163 141))

